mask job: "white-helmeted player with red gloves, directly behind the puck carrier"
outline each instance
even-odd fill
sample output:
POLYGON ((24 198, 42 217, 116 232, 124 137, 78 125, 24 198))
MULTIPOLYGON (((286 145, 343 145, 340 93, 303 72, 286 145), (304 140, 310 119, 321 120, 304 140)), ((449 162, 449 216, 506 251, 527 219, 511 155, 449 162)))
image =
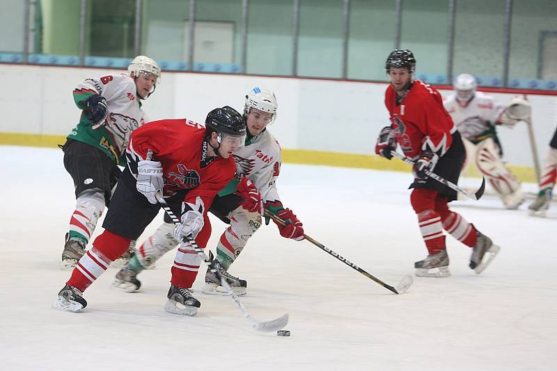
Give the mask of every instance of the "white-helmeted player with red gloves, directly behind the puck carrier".
MULTIPOLYGON (((242 295, 246 293, 247 282, 228 273, 228 267, 244 249, 246 242, 261 225, 261 201, 267 211, 278 215, 288 222, 287 226, 277 224, 281 236, 302 240, 304 229, 296 215, 284 208, 278 191, 276 179, 281 167, 281 147, 267 125, 276 118, 276 97, 270 90, 253 88, 246 95, 244 118, 247 136, 244 147, 233 156, 237 166, 237 177, 215 197, 210 212, 230 226, 222 234, 217 244, 215 257, 219 272, 231 288, 242 295)), ((173 224, 165 215, 165 222, 150 236, 130 258, 127 266, 116 274, 114 286, 127 292, 139 289, 141 282, 137 274, 152 265, 163 254, 175 248, 178 240, 173 236, 173 224)), ((223 292, 219 279, 207 270, 203 292, 214 294, 223 292)))

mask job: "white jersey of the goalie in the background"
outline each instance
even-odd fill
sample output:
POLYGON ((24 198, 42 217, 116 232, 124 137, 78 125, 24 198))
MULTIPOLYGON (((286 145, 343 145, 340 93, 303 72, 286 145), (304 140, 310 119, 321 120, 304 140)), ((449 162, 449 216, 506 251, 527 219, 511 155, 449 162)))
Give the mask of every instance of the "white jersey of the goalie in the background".
POLYGON ((496 104, 493 97, 483 92, 476 92, 466 104, 457 101, 456 94, 452 94, 445 99, 443 105, 458 131, 468 140, 480 139, 478 137, 490 129, 489 124, 499 123, 505 110, 505 106, 496 104))

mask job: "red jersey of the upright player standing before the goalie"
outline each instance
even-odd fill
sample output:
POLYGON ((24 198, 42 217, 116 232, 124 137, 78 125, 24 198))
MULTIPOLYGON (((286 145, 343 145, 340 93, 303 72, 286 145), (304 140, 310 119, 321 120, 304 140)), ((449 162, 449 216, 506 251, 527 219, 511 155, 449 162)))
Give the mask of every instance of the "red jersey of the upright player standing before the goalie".
POLYGON ((396 91, 389 84, 385 106, 402 151, 416 159, 425 149, 443 156, 453 142, 456 126, 443 106, 441 94, 429 84, 414 80, 407 95, 396 104, 396 91))

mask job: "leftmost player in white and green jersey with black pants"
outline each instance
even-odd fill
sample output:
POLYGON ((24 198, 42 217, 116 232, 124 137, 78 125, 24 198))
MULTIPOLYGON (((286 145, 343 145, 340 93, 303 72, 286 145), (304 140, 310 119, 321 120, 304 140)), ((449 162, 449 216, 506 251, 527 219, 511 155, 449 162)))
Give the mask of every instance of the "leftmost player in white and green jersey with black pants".
POLYGON ((104 206, 109 205, 120 176, 118 164, 125 165, 130 133, 148 121, 141 100, 155 90, 161 69, 152 58, 136 56, 127 72, 85 79, 73 92, 81 118, 60 147, 77 202, 65 235, 63 270, 72 269, 83 256, 104 206))

